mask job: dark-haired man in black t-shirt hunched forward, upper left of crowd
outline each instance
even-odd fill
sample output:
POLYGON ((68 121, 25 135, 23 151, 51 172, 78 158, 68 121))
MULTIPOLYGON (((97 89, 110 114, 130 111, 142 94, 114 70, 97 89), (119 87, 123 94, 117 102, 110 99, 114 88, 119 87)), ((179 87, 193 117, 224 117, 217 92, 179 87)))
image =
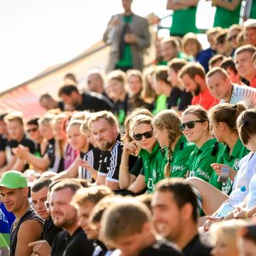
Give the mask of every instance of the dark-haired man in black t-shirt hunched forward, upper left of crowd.
POLYGON ((112 102, 107 97, 95 92, 79 93, 78 88, 73 84, 63 85, 59 90, 59 97, 73 110, 96 112, 113 108, 112 102))

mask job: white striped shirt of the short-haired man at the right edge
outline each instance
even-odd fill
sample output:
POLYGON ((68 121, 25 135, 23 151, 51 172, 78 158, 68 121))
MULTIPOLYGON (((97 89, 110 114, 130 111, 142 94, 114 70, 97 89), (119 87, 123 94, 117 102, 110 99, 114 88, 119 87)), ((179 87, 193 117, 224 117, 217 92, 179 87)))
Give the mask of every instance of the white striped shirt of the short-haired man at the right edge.
MULTIPOLYGON (((246 102, 249 108, 253 108, 256 105, 256 89, 244 85, 232 84, 232 94, 230 97, 230 104, 236 104, 238 102, 246 102)), ((220 103, 224 103, 221 100, 220 103)))

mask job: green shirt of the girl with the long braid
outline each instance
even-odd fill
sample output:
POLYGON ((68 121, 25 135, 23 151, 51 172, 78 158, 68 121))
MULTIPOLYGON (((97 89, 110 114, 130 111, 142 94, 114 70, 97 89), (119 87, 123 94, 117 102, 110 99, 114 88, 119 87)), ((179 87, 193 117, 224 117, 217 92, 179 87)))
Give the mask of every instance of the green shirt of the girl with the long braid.
MULTIPOLYGON (((187 168, 186 164, 189 160, 189 155, 195 149, 194 143, 188 143, 186 137, 183 135, 178 139, 170 160, 171 174, 170 177, 185 177, 187 168)), ((168 150, 165 148, 166 154, 163 161, 163 172, 165 170, 166 163, 168 161, 168 150)))

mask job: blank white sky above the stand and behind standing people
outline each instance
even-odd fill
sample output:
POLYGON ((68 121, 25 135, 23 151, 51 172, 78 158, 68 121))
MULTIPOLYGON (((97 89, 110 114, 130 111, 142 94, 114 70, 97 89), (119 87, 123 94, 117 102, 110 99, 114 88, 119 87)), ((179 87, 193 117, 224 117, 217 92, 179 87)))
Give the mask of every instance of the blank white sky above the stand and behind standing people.
MULTIPOLYGON (((137 15, 171 14, 166 0, 134 0, 137 15)), ((120 0, 0 0, 0 91, 49 66, 69 61, 101 40, 120 0)), ((197 25, 210 27, 214 9, 201 0, 197 25)), ((170 26, 171 18, 163 21, 170 26)), ((162 31, 166 35, 167 31, 162 31)))

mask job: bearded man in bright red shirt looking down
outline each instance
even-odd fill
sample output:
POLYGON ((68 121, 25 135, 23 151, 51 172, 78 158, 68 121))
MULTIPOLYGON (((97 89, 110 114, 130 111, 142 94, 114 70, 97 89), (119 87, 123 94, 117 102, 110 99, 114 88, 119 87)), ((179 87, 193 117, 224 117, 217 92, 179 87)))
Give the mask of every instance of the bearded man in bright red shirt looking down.
POLYGON ((205 109, 218 104, 207 88, 206 73, 199 63, 188 63, 180 71, 180 78, 186 91, 194 94, 191 105, 201 105, 205 109))

